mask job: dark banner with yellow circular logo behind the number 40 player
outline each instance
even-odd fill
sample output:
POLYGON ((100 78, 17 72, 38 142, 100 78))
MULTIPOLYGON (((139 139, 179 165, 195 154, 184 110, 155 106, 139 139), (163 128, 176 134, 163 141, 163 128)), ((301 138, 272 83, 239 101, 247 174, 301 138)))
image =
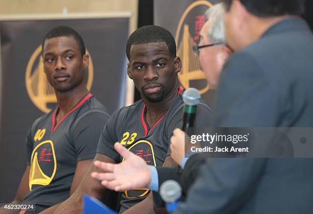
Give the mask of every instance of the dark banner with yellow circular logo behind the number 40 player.
POLYGON ((44 36, 60 25, 81 34, 90 55, 87 87, 113 113, 125 103, 129 16, 0 17, 0 203, 13 200, 25 171, 27 131, 36 118, 56 106, 54 90, 43 73, 44 36))

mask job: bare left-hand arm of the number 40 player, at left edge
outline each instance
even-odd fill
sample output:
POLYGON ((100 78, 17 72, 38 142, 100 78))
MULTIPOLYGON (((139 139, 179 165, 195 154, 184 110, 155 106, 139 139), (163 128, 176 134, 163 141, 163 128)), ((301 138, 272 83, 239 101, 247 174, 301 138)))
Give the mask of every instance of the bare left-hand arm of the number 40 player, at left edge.
MULTIPOLYGON (((10 204, 20 204, 21 202, 23 202, 23 200, 24 200, 24 198, 28 192, 29 171, 30 171, 30 166, 28 165, 26 167, 25 173, 24 173, 24 175, 23 175, 23 177, 19 183, 16 196, 10 204)), ((3 207, 1 207, 1 208, 3 208, 3 207)), ((0 209, 0 213, 1 214, 2 213, 17 213, 17 211, 10 210, 10 212, 9 212, 5 209, 0 209)))

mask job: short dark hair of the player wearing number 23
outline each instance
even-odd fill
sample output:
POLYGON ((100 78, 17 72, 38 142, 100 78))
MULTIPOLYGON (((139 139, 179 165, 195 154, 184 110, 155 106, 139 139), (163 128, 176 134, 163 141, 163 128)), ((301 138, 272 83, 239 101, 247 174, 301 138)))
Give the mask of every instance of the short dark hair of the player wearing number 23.
POLYGON ((151 42, 165 42, 172 57, 176 56, 176 43, 173 35, 160 26, 148 25, 138 28, 128 38, 126 55, 130 60, 130 47, 133 44, 146 44, 151 42))

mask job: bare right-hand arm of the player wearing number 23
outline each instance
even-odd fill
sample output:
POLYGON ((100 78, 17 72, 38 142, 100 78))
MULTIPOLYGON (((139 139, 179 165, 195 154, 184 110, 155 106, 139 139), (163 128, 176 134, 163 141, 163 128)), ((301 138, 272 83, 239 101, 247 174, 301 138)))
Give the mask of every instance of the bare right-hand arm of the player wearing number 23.
MULTIPOLYGON (((176 164, 171 158, 171 156, 167 156, 164 160, 163 167, 174 167, 176 164)), ((157 210, 163 211, 163 208, 158 208, 157 210), (161 210, 160 210, 161 209, 161 210)), ((155 210, 155 211, 157 211, 155 210)), ((158 212, 159 212, 158 211, 158 212)), ((153 198, 152 193, 149 194, 147 198, 145 198, 140 203, 136 204, 135 206, 130 207, 127 209, 124 214, 130 214, 130 213, 142 213, 142 214, 149 214, 149 213, 155 213, 153 210, 153 198)))

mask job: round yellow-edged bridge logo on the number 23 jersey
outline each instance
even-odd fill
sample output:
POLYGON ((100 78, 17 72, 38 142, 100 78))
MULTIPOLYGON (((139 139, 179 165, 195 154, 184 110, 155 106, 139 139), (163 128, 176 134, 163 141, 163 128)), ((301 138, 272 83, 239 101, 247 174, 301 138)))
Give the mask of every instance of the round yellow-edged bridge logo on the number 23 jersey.
MULTIPOLYGON (((128 151, 131 151, 132 153, 135 153, 139 157, 143 158, 146 163, 149 165, 155 164, 155 157, 154 157, 154 150, 151 142, 148 140, 139 140, 135 144, 131 145, 131 147, 128 148, 128 151), (152 163, 152 164, 151 164, 152 163)), ((125 158, 123 158, 122 162, 125 158)), ((136 188, 136 189, 128 189, 125 192, 126 197, 128 198, 136 198, 136 197, 143 197, 149 193, 149 189, 147 188, 136 188)))

